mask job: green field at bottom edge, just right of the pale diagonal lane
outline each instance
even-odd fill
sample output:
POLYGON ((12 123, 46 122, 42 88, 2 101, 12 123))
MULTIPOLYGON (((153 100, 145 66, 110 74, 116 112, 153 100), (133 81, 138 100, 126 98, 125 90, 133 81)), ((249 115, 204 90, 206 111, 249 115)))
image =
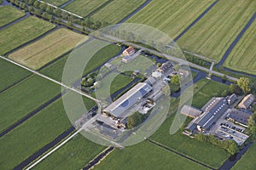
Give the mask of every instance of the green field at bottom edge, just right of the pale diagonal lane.
POLYGON ((82 169, 104 149, 79 134, 34 169, 82 169))

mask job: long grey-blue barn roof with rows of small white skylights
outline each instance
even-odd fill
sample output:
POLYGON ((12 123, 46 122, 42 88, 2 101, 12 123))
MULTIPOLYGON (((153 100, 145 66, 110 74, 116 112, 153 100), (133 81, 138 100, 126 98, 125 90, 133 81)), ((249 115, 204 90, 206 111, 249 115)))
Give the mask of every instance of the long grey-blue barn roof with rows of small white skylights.
POLYGON ((224 98, 212 98, 207 105, 203 107, 205 111, 199 118, 197 124, 207 129, 216 122, 220 116, 228 109, 228 104, 224 98))

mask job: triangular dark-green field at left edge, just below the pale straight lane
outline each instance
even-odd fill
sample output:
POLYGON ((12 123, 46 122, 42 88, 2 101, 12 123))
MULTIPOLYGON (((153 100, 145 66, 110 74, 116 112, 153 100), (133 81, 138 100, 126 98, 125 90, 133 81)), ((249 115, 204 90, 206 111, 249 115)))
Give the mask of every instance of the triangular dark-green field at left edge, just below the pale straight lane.
POLYGON ((0 59, 0 72, 0 91, 31 75, 29 71, 3 59, 0 59))

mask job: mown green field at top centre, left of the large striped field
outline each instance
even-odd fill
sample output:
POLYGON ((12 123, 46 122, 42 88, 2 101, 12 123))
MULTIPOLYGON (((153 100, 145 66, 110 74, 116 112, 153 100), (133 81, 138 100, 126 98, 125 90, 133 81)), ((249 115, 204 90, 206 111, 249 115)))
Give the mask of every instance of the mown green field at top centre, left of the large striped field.
POLYGON ((94 20, 101 20, 109 24, 116 24, 128 14, 140 7, 145 0, 113 0, 111 3, 92 15, 94 20))

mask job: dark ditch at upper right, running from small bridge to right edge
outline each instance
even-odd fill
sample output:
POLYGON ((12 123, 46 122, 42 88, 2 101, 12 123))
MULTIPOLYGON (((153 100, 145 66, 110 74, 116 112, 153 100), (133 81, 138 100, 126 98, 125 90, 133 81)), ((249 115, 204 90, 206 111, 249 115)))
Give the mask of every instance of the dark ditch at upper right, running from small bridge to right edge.
POLYGON ((218 68, 220 65, 224 64, 224 61, 228 58, 233 48, 235 48, 236 43, 239 42, 242 35, 247 31, 247 29, 252 25, 253 20, 256 18, 256 13, 253 14, 252 18, 247 22, 247 25, 241 30, 241 32, 238 34, 234 42, 231 43, 230 48, 227 49, 222 59, 218 62, 218 65, 216 65, 216 68, 218 68))

